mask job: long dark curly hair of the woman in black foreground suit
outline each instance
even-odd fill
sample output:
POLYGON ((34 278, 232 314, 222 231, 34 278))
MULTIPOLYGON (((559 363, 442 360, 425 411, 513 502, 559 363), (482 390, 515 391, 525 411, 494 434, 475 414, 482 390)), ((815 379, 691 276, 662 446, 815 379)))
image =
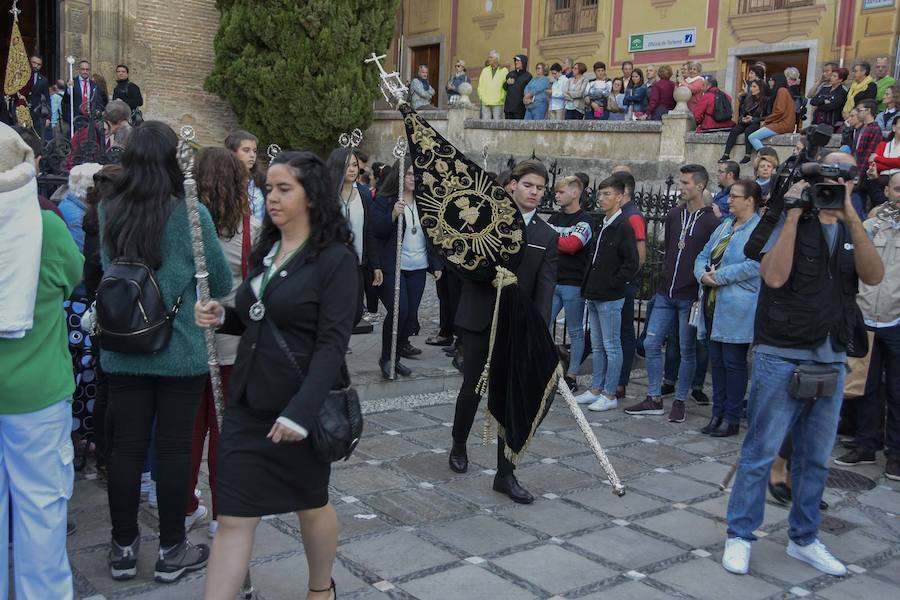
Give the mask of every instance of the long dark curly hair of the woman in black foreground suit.
MULTIPOLYGON (((334 191, 331 174, 321 158, 312 152, 282 152, 272 161, 275 165, 286 165, 306 192, 309 211, 310 236, 307 244, 314 254, 337 242, 351 245, 350 226, 341 211, 340 201, 334 191)), ((258 268, 262 260, 281 239, 281 232, 266 213, 259 240, 250 254, 251 268, 258 268)))

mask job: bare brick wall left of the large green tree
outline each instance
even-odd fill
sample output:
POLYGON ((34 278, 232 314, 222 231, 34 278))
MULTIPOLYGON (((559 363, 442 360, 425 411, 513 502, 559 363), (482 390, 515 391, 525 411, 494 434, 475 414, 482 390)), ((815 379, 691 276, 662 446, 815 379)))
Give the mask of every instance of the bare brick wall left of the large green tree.
POLYGON ((193 125, 201 144, 221 144, 237 121, 225 101, 203 91, 219 23, 215 2, 140 0, 133 6, 126 53, 134 65, 132 79, 144 94, 144 117, 163 120, 176 131, 193 125))

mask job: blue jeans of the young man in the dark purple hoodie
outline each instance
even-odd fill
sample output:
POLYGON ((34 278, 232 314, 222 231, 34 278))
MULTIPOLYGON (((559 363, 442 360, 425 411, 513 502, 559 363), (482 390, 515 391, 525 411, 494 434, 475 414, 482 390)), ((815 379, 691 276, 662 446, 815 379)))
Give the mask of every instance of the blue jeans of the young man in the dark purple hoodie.
POLYGON ((647 357, 647 395, 654 398, 662 395, 662 343, 677 323, 685 335, 679 336, 681 365, 678 368, 675 399, 684 401, 690 392, 697 366, 695 342, 697 330, 688 324, 692 301, 669 298, 662 294, 657 294, 653 300, 653 313, 647 324, 647 339, 644 341, 644 352, 647 357))

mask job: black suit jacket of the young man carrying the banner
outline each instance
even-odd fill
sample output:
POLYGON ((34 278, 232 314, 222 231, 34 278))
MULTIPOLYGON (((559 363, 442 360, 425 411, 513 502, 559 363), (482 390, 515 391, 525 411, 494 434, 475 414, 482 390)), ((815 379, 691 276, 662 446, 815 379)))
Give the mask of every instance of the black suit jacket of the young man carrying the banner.
MULTIPOLYGON (((538 214, 525 228, 525 256, 516 269, 519 287, 531 298, 546 323, 550 323, 553 291, 556 289, 556 264, 559 259, 559 234, 538 214)), ((494 315, 496 290, 487 282, 463 278, 456 325, 469 331, 485 331, 494 315)))

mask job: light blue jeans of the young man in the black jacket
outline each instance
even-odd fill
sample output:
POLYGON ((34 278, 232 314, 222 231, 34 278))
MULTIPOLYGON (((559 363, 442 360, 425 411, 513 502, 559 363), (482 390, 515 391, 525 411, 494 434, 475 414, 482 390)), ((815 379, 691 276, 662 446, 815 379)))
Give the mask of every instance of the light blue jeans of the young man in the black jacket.
POLYGON ((594 377, 591 388, 615 397, 622 370, 622 304, 624 300, 586 300, 591 323, 594 377))

